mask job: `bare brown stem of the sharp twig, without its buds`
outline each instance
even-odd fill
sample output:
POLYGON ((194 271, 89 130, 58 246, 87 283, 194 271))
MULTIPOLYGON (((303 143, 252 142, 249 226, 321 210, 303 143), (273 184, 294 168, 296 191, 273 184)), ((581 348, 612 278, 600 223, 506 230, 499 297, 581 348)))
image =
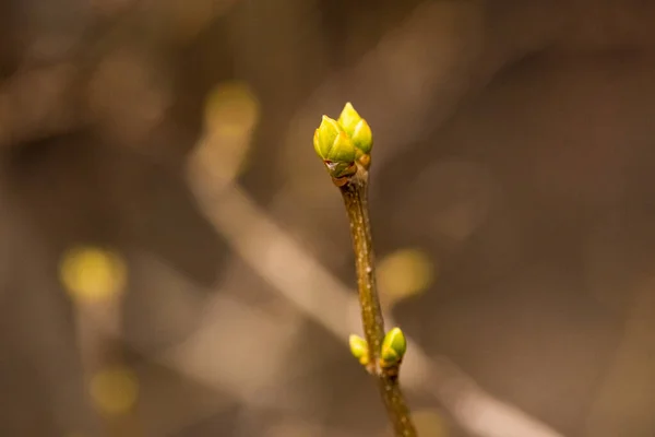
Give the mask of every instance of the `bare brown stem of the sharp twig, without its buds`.
POLYGON ((378 379, 386 413, 398 437, 416 437, 409 409, 401 390, 396 369, 381 369, 378 365, 384 339, 384 319, 376 285, 376 264, 368 210, 368 172, 358 166, 357 173, 340 186, 355 249, 357 287, 361 306, 361 321, 368 347, 367 369, 378 379))

